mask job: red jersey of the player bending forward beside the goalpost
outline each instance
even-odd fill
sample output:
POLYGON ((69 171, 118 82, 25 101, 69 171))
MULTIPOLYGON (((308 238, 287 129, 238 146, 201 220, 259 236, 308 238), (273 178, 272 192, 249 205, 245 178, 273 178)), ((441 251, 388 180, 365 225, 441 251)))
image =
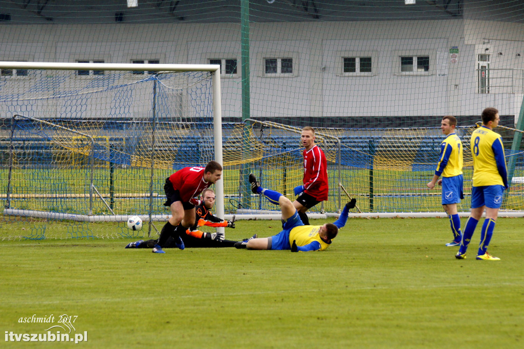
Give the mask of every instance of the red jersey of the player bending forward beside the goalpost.
POLYGON ((203 167, 184 167, 169 176, 173 189, 180 192, 180 199, 189 202, 189 199, 200 195, 202 190, 209 188, 211 182, 204 180, 203 167))

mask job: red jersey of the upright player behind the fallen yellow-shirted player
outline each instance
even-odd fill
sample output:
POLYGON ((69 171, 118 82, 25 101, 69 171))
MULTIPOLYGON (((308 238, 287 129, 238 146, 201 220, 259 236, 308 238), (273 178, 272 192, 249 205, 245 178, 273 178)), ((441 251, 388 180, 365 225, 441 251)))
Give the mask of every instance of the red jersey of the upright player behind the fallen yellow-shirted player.
POLYGON ((318 201, 328 200, 328 161, 322 149, 316 145, 303 152, 304 192, 318 201))

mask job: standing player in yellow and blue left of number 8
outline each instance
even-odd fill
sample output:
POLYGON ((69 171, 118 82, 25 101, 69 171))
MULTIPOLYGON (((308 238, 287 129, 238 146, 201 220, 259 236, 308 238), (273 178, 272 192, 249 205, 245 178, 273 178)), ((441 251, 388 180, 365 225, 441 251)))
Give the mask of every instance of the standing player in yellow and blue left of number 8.
POLYGON ((431 182, 426 184, 429 189, 435 184, 442 186, 442 207, 450 219, 453 241, 446 246, 459 246, 461 242, 460 217, 457 203, 464 199, 464 179, 462 177, 462 142, 455 133, 457 119, 446 115, 442 118, 440 129, 446 138, 440 145, 439 162, 431 182), (442 176, 442 179, 439 177, 442 176))

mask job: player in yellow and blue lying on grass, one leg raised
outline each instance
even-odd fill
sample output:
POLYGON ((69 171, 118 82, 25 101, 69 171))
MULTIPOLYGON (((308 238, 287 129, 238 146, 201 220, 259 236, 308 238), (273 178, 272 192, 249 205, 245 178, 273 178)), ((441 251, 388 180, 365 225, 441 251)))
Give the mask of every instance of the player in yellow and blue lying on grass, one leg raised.
POLYGON ((282 231, 277 235, 250 239, 235 244, 236 248, 247 249, 290 249, 291 252, 322 251, 331 245, 347 221, 347 214, 355 207, 356 200, 346 203, 338 220, 324 225, 304 225, 293 203, 277 191, 264 189, 257 183, 253 173, 249 174, 251 190, 263 195, 269 202, 280 205, 282 211, 282 231))

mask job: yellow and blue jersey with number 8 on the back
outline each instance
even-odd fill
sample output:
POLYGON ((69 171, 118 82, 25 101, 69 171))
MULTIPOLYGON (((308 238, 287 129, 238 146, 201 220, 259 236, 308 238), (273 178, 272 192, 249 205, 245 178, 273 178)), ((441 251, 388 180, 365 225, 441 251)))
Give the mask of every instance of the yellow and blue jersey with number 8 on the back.
POLYGON ((502 137, 482 126, 471 135, 473 155, 473 187, 495 186, 508 188, 506 159, 502 137))

